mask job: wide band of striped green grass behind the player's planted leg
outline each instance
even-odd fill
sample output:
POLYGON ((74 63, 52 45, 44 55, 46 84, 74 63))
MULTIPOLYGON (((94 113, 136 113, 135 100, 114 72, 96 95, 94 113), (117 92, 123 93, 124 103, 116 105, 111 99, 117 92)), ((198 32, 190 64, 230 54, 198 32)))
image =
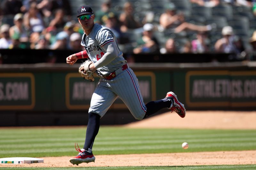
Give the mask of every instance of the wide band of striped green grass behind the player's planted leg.
MULTIPOLYGON (((152 125, 153 127, 154 125, 152 125)), ((0 129, 0 158, 74 156, 85 127, 0 129)), ((95 155, 238 151, 256 149, 256 130, 128 129, 100 127, 95 155), (189 149, 181 148, 188 142, 189 149)))

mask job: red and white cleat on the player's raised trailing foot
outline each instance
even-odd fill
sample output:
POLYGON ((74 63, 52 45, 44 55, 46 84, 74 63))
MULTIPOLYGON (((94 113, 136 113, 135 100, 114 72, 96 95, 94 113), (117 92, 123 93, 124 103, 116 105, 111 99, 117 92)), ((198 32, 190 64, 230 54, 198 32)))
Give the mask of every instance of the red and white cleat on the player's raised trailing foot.
POLYGON ((182 118, 186 116, 186 109, 184 105, 179 102, 174 92, 168 92, 165 98, 172 100, 172 105, 168 109, 174 110, 182 118))

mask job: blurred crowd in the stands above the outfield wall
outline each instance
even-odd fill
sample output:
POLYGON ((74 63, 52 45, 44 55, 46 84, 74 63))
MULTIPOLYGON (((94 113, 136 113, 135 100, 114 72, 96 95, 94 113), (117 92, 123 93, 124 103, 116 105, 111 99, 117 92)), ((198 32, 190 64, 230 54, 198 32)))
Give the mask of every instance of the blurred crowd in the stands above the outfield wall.
POLYGON ((0 48, 84 50, 77 7, 92 7, 126 54, 232 53, 252 60, 256 0, 0 0, 0 48))

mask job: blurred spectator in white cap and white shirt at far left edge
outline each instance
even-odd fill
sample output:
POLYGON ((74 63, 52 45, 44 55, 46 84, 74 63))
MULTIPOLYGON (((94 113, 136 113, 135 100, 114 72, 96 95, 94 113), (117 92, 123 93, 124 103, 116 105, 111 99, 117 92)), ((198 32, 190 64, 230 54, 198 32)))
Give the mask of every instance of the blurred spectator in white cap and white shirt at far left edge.
POLYGON ((1 34, 0 48, 6 49, 6 48, 9 48, 10 45, 12 44, 12 40, 10 39, 9 29, 10 29, 10 26, 8 24, 4 24, 0 27, 0 34, 1 34))

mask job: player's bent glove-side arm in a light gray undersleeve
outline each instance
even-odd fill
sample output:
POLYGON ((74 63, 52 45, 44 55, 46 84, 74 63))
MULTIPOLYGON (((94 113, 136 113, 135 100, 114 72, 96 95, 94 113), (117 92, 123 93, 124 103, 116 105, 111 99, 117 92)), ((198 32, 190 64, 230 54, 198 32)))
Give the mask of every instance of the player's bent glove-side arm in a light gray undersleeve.
POLYGON ((96 69, 103 67, 113 61, 117 55, 118 50, 116 49, 116 45, 114 41, 108 42, 102 48, 106 51, 106 53, 95 63, 90 64, 90 70, 94 72, 96 69))

